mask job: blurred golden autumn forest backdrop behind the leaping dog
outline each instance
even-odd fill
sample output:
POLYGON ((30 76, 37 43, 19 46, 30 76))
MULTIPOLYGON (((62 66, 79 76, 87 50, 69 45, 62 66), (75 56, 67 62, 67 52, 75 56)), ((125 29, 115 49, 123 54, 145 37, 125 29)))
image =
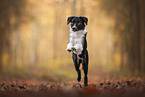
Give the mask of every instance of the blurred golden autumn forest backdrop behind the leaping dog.
POLYGON ((1 77, 76 79, 72 15, 89 20, 89 78, 144 76, 145 0, 0 0, 1 77))

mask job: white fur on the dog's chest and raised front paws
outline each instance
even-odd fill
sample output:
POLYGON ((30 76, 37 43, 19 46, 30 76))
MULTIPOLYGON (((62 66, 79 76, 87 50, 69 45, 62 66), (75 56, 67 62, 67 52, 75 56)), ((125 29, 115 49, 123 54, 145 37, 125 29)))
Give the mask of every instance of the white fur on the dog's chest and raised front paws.
POLYGON ((86 28, 84 30, 74 32, 70 27, 70 39, 66 50, 72 50, 72 48, 75 48, 76 50, 72 51, 77 55, 81 54, 83 51, 83 39, 86 33, 86 28))

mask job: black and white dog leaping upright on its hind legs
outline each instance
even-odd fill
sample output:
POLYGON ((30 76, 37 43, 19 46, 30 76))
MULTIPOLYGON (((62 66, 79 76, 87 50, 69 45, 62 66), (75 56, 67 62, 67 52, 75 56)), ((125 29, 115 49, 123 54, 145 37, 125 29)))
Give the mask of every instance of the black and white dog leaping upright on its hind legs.
POLYGON ((74 62, 75 69, 78 73, 77 81, 81 81, 81 70, 79 69, 80 64, 84 70, 84 86, 88 85, 88 51, 87 51, 87 31, 86 25, 88 18, 71 16, 67 19, 67 24, 71 23, 70 26, 70 38, 67 44, 67 51, 72 51, 72 59, 74 62))

